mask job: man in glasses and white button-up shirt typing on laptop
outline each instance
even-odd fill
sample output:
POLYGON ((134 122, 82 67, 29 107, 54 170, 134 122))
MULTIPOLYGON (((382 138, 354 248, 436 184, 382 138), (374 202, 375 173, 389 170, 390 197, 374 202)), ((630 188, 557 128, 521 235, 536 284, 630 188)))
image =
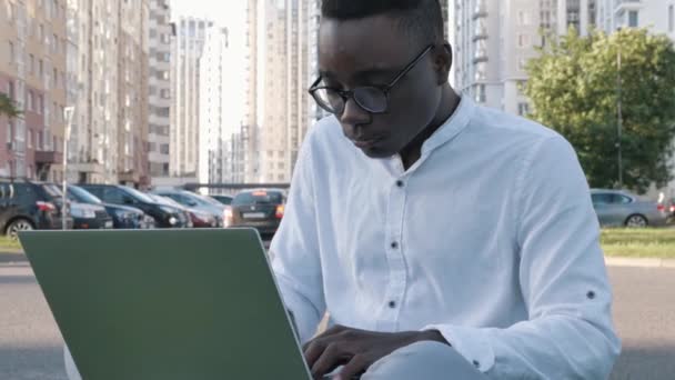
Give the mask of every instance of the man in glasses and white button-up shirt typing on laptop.
POLYGON ((457 96, 443 29, 437 0, 323 1, 311 92, 333 117, 271 247, 312 373, 605 379, 619 342, 574 150, 457 96))

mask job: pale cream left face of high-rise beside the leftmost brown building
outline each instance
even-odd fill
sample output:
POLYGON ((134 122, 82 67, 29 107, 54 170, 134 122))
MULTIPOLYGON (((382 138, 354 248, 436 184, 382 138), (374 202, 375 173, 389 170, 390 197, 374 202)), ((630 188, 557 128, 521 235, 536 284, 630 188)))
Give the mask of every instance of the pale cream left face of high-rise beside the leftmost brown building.
POLYGON ((117 183, 119 0, 68 1, 72 181, 117 183))

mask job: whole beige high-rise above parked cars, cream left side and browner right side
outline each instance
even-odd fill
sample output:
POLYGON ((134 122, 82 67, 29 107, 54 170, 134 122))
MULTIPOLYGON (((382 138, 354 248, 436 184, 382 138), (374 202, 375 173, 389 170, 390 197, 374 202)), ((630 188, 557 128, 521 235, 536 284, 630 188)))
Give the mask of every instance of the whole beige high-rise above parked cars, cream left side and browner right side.
POLYGON ((69 177, 149 184, 149 0, 68 1, 69 177))

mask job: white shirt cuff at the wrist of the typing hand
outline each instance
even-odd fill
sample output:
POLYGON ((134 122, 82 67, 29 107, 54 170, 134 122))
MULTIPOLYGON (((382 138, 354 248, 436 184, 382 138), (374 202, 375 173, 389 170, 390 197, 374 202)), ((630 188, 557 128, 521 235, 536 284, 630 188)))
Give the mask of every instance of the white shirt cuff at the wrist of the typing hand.
POLYGON ((486 373, 494 367, 494 350, 490 342, 487 329, 459 327, 452 324, 432 324, 422 330, 437 330, 443 338, 478 371, 486 373))

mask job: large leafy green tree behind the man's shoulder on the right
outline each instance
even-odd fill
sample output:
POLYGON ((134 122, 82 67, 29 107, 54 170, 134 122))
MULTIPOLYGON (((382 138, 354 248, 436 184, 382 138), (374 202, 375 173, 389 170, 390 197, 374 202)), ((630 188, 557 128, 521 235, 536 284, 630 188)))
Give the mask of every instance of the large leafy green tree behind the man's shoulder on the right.
POLYGON ((643 192, 672 179, 675 49, 666 36, 625 29, 580 37, 571 29, 527 71, 531 117, 572 142, 592 187, 618 183, 619 99, 624 187, 643 192))

